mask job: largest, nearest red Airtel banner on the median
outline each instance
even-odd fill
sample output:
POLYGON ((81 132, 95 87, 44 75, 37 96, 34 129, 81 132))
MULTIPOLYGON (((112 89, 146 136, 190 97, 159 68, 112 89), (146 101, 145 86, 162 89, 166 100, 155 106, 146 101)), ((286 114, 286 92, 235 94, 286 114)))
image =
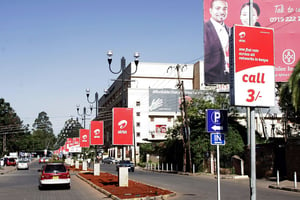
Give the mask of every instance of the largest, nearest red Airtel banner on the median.
POLYGON ((133 145, 133 108, 113 108, 113 145, 133 145))

